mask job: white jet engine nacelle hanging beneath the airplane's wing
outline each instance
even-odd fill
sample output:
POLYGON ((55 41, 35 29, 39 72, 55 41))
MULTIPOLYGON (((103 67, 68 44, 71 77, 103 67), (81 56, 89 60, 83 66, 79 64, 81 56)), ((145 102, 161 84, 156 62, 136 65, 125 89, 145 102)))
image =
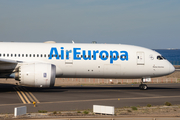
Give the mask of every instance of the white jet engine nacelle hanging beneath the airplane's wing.
POLYGON ((15 80, 20 85, 32 87, 53 87, 56 77, 56 66, 48 63, 22 65, 15 73, 15 80))

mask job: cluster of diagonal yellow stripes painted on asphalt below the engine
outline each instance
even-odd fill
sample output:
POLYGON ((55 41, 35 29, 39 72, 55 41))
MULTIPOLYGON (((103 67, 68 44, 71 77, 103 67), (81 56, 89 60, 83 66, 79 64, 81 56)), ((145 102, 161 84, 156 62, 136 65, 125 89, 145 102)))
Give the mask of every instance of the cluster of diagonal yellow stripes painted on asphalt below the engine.
POLYGON ((36 98, 30 91, 28 91, 26 88, 24 88, 24 87, 18 87, 18 86, 13 87, 13 88, 17 91, 20 99, 23 101, 24 104, 27 104, 27 103, 28 103, 28 104, 31 104, 31 103, 33 103, 34 101, 37 102, 37 103, 40 103, 40 102, 37 100, 37 98, 36 98), (25 100, 24 100, 24 99, 25 99, 25 100))

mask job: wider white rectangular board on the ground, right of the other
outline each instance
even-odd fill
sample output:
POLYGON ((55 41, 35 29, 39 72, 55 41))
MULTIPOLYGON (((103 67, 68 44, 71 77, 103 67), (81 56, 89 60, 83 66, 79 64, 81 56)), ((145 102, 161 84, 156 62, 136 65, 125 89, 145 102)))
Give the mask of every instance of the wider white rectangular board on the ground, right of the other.
POLYGON ((114 115, 114 106, 93 105, 93 112, 114 115))

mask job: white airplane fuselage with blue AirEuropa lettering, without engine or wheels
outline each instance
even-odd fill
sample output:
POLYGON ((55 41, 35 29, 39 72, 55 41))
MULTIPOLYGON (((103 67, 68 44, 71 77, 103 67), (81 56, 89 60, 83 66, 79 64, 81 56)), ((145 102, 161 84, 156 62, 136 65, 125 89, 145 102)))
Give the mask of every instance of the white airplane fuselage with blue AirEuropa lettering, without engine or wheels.
POLYGON ((10 69, 30 63, 55 65, 56 77, 151 78, 174 72, 172 64, 159 53, 121 44, 2 42, 0 60, 18 62, 16 66, 2 64, 0 70, 7 73, 1 77, 10 69))

